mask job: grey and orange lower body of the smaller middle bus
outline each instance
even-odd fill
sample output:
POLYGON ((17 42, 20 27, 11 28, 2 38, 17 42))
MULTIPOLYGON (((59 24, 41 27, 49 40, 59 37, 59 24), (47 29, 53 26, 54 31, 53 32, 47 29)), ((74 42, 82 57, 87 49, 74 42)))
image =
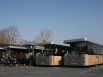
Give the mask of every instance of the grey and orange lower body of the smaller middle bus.
POLYGON ((36 56, 36 65, 59 66, 62 65, 61 56, 36 56))

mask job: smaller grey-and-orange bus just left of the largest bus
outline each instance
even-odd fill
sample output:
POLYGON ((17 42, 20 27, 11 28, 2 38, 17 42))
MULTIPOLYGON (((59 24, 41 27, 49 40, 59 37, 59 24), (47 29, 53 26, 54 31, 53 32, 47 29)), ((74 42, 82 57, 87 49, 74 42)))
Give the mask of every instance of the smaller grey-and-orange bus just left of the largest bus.
POLYGON ((69 51, 68 46, 58 44, 42 44, 44 50, 36 54, 36 65, 62 66, 63 56, 69 51))

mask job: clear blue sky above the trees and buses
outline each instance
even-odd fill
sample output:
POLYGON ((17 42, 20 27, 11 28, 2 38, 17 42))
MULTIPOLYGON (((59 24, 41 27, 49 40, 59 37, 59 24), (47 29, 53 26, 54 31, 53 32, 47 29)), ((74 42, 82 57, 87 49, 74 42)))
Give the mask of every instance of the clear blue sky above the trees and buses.
POLYGON ((27 40, 51 29, 58 43, 81 37, 102 43, 103 0, 0 0, 0 29, 12 25, 27 40))

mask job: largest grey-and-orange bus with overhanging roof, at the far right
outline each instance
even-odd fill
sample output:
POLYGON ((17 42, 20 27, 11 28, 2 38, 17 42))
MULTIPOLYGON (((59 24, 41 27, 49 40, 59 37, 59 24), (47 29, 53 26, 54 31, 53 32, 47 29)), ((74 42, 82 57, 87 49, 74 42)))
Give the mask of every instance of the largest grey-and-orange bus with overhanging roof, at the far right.
POLYGON ((64 40, 70 51, 64 55, 65 66, 91 66, 103 64, 103 46, 88 38, 64 40))

